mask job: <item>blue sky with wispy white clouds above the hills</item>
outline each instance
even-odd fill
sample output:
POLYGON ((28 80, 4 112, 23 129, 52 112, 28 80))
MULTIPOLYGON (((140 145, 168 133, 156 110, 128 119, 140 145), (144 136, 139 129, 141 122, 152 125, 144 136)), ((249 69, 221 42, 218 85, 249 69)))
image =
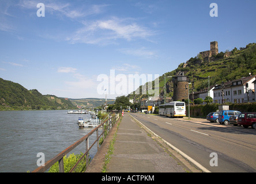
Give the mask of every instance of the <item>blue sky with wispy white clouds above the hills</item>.
POLYGON ((57 97, 115 98, 211 41, 219 52, 255 43, 255 19, 255 0, 1 0, 0 78, 57 97))

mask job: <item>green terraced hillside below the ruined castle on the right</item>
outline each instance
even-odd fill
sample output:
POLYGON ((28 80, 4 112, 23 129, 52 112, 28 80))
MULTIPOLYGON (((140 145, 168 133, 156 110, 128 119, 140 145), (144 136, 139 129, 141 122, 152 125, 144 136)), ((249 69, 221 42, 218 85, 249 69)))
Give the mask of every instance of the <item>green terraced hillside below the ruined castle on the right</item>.
MULTIPOLYGON (((256 74, 256 44, 251 43, 245 48, 234 48, 232 51, 220 52, 218 55, 203 58, 200 54, 191 57, 186 63, 180 63, 178 68, 165 73, 165 76, 175 76, 182 73, 190 77, 190 82, 194 81, 194 91, 199 91, 208 87, 208 76, 210 85, 221 82, 232 81, 256 74)), ((145 84, 147 85, 147 83, 145 84)), ((153 85, 154 86, 154 85, 153 85)), ((173 95, 173 83, 171 78, 166 78, 167 95, 173 95)), ((139 87, 140 89, 142 86, 139 87)), ((138 89, 137 89, 138 90, 138 89)), ((159 92, 164 95, 164 75, 159 77, 159 92)), ((134 95, 130 93, 130 99, 148 98, 144 95, 134 95)))

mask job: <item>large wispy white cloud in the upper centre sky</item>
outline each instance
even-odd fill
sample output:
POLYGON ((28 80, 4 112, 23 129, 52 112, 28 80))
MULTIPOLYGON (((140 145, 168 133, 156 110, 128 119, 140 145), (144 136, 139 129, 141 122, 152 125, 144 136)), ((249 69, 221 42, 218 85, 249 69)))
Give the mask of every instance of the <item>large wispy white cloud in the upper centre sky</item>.
POLYGON ((112 17, 108 20, 83 22, 84 27, 78 29, 66 40, 71 43, 87 44, 115 44, 117 39, 131 41, 133 39, 145 39, 153 35, 153 32, 138 25, 131 18, 112 17))

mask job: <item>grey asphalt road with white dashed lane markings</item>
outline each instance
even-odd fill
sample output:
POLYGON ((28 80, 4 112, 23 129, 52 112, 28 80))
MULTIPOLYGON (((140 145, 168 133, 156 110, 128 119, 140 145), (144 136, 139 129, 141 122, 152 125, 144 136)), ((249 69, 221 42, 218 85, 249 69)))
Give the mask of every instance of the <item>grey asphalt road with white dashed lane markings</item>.
POLYGON ((129 114, 210 172, 256 172, 255 129, 209 121, 197 123, 182 118, 129 114), (211 153, 217 155, 210 157, 211 153))

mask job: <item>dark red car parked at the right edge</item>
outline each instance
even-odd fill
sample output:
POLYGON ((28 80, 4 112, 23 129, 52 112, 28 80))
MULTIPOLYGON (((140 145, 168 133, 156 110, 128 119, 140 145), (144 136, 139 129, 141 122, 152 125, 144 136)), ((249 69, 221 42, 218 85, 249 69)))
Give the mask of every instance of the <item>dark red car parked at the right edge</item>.
POLYGON ((238 125, 243 125, 244 128, 256 128, 256 113, 241 113, 238 116, 238 125))

